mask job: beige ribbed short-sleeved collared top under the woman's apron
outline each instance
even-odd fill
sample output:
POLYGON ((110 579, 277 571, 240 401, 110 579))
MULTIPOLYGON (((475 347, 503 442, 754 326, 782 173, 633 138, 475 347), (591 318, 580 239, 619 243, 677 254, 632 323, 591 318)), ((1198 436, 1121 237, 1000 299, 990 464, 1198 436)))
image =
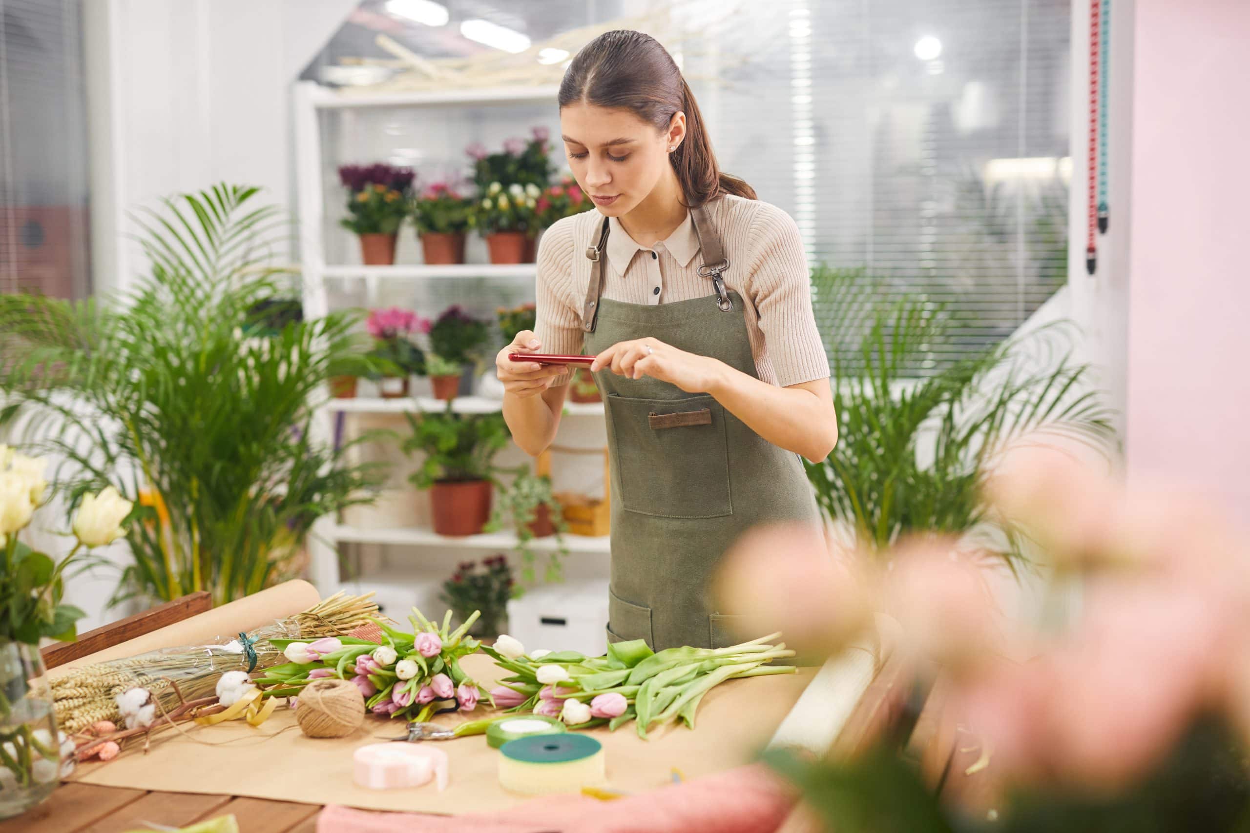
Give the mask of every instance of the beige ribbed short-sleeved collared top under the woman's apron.
MULTIPOLYGON (((724 196, 708 205, 729 259, 725 285, 742 296, 746 332, 760 378, 782 387, 829 377, 829 360, 811 313, 808 256, 799 227, 781 209, 724 196)), ((565 217, 548 229, 538 256, 538 325, 542 352, 582 351, 581 308, 590 285, 586 247, 604 215, 565 217)), ((699 276, 699 239, 690 215, 652 249, 639 246, 610 220, 602 297, 628 303, 671 303, 712 295, 699 276)), ((558 382, 560 378, 558 377, 558 382)))

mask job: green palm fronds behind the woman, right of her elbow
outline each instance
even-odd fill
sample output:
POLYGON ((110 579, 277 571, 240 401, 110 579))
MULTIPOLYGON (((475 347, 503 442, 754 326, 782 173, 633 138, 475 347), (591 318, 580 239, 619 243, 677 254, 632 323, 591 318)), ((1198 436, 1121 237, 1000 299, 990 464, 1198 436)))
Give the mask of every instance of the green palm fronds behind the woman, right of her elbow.
POLYGON ((981 500, 998 455, 1025 435, 1054 435, 1106 448, 1110 412, 1074 363, 1061 326, 971 353, 932 375, 914 368, 950 338, 940 306, 882 302, 862 272, 816 270, 830 337, 859 338, 858 356, 832 356, 839 440, 808 463, 824 511, 880 551, 904 533, 976 532, 1009 566, 1025 557, 1019 528, 981 500))

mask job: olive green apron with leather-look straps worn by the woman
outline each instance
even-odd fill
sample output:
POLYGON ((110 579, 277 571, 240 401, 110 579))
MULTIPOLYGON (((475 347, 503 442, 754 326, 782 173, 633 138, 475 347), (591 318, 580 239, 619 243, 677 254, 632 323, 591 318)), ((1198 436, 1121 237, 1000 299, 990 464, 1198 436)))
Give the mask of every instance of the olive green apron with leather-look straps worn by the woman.
MULTIPOLYGON (((619 341, 652 337, 711 356, 759 378, 742 300, 726 291, 729 267, 704 207, 691 209, 700 244, 699 274, 715 293, 650 306, 600 298, 604 220, 582 310, 588 355, 619 341)), ((741 634, 722 614, 709 581, 721 555, 748 528, 774 521, 819 523, 802 461, 755 433, 705 393, 644 376, 601 370, 611 461, 611 584, 608 639, 645 639, 655 651, 722 648, 741 634)))

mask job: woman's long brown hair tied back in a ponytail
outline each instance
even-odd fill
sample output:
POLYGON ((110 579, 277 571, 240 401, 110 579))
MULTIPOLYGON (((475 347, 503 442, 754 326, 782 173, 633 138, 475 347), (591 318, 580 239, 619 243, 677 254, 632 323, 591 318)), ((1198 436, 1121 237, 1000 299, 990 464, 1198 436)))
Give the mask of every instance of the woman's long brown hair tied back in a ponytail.
POLYGON ((722 194, 755 200, 755 189, 720 170, 708 126, 690 85, 658 40, 640 31, 604 32, 574 56, 560 81, 560 107, 585 102, 629 110, 658 130, 668 130, 672 114, 686 114, 686 136, 669 154, 690 206, 722 194))

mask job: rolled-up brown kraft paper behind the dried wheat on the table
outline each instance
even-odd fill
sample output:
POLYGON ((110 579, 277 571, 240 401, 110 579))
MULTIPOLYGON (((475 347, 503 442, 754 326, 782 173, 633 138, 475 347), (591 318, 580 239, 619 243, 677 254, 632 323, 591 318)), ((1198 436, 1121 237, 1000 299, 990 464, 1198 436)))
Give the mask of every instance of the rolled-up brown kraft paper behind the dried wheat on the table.
POLYGON ((182 622, 58 666, 49 671, 48 676, 59 677, 79 666, 106 659, 122 659, 159 648, 211 644, 219 637, 229 641, 240 631, 252 631, 264 624, 272 624, 275 619, 306 611, 320 601, 321 597, 312 584, 305 581, 284 582, 211 611, 205 611, 182 622))

